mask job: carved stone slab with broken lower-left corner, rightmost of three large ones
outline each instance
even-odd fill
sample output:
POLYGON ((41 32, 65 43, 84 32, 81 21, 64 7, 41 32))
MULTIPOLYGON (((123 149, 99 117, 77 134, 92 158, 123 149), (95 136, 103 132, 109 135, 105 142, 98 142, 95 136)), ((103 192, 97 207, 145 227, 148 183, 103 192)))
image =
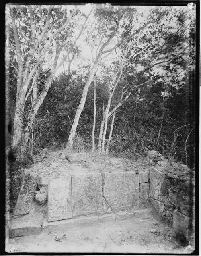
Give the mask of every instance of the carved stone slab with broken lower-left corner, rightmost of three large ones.
POLYGON ((139 203, 139 175, 106 173, 103 194, 111 210, 128 210, 139 203))

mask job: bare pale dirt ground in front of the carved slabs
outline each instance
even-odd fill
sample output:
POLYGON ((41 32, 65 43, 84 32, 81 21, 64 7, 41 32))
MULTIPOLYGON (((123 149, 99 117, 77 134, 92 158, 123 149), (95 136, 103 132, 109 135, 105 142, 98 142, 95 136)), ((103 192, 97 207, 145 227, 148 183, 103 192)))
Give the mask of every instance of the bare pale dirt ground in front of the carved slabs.
POLYGON ((9 239, 7 252, 64 253, 165 253, 189 254, 191 246, 181 247, 172 239, 172 229, 154 216, 117 217, 82 223, 65 231, 9 239))

